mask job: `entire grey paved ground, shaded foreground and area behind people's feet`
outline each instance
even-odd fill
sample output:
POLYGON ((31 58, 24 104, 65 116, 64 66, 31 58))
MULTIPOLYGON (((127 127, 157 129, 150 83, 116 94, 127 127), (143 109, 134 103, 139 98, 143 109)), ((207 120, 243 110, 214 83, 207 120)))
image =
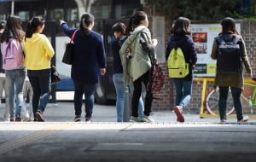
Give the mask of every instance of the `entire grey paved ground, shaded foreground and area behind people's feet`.
MULTIPOLYGON (((116 123, 115 107, 96 105, 93 122, 73 122, 73 102, 49 103, 46 122, 0 122, 0 162, 254 162, 256 121, 153 112, 154 124, 116 123)), ((3 107, 0 107, 3 121, 3 107)))

